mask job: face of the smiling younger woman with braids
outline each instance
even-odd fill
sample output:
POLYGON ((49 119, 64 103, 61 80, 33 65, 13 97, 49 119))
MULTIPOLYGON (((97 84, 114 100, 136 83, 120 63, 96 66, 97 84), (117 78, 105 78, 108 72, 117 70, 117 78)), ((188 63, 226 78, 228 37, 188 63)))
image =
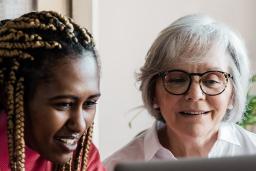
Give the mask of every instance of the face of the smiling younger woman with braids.
POLYGON ((100 96, 99 73, 92 54, 83 55, 58 62, 53 76, 39 82, 28 103, 26 144, 56 163, 71 158, 78 139, 95 116, 100 96), (71 140, 73 145, 67 148, 64 139, 71 140))

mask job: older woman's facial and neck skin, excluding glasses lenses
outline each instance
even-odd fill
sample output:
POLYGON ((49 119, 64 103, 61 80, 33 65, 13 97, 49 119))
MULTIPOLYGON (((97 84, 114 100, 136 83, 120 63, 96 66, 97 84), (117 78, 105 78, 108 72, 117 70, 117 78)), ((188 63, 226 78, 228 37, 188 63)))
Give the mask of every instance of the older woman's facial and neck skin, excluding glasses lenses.
MULTIPOLYGON (((213 49, 200 63, 184 63, 177 59, 170 69, 181 69, 189 73, 209 70, 229 72, 228 56, 222 49, 213 49)), ((199 77, 193 77, 189 91, 184 95, 171 95, 159 78, 155 89, 155 103, 166 121, 166 128, 159 132, 160 143, 170 149, 176 157, 207 156, 214 145, 219 124, 232 106, 231 79, 225 91, 217 96, 205 95, 199 86, 199 77), (182 115, 180 112, 207 112, 199 115, 182 115)))

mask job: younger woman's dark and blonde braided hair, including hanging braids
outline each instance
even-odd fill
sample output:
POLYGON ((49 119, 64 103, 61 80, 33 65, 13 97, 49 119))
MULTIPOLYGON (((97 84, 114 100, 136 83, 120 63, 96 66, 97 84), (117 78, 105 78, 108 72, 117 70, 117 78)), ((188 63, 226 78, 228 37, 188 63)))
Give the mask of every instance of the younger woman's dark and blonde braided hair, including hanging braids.
MULTIPOLYGON (((12 171, 25 170, 24 140, 24 77, 20 75, 22 64, 35 60, 32 49, 62 49, 62 44, 45 38, 44 34, 58 32, 84 48, 94 47, 91 34, 58 13, 45 11, 28 13, 14 20, 0 22, 0 84, 6 92, 7 134, 9 162, 12 171), (64 34, 64 35, 63 35, 64 34)), ((77 154, 57 170, 85 170, 91 144, 92 127, 79 141, 77 154)))

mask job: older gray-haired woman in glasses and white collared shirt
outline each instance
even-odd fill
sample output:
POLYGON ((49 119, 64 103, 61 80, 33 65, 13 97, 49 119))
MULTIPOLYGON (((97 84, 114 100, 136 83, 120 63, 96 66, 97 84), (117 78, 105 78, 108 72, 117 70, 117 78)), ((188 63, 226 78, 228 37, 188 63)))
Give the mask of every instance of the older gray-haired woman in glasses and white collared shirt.
POLYGON ((154 126, 105 161, 173 160, 256 153, 243 117, 248 57, 238 36, 204 15, 182 17, 151 46, 139 75, 154 126))

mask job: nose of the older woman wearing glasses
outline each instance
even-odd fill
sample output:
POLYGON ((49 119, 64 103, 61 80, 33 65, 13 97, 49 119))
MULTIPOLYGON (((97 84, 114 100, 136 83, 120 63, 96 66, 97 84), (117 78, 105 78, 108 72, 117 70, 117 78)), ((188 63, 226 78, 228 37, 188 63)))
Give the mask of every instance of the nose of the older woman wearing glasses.
POLYGON ((189 90, 185 94, 185 99, 190 101, 205 99, 205 93, 201 90, 199 80, 192 79, 189 90))

